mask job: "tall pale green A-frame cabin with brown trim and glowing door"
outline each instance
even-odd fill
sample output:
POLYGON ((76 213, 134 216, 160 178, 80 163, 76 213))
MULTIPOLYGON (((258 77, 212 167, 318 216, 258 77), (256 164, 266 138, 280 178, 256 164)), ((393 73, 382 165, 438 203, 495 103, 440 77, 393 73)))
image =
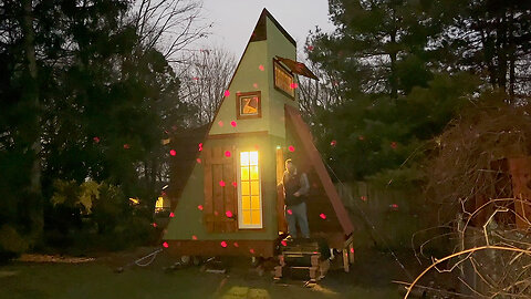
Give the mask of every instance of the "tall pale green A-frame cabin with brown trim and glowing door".
POLYGON ((274 256, 279 231, 285 231, 278 185, 284 158, 294 157, 310 178, 312 237, 326 238, 352 260, 352 223, 299 113, 295 74, 316 78, 295 62, 295 49, 293 38, 264 9, 198 144, 191 175, 174 198, 163 237, 169 252, 274 256))

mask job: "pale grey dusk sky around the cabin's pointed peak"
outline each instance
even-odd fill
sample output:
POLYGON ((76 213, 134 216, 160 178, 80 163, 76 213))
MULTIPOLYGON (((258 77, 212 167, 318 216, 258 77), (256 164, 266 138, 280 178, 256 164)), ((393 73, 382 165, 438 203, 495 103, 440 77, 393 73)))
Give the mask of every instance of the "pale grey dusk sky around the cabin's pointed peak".
POLYGON ((315 25, 324 31, 334 28, 329 21, 327 0, 204 0, 202 17, 214 27, 201 43, 228 49, 239 58, 264 8, 293 37, 299 50, 315 25))

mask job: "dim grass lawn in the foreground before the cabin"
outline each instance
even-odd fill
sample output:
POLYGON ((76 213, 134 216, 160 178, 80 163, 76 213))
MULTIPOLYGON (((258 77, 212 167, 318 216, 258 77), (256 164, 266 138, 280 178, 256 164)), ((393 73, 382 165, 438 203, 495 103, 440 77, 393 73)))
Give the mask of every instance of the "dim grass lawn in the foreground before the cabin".
POLYGON ((98 259, 85 264, 13 262, 0 267, 0 298, 402 298, 391 283, 397 275, 388 256, 356 262, 350 274, 332 270, 314 288, 304 288, 302 280, 273 283, 272 276, 262 277, 249 267, 249 259, 232 259, 226 275, 208 274, 198 267, 165 272, 171 265, 168 257, 158 257, 149 267, 131 267, 114 272, 122 261, 98 259), (382 265, 386 265, 382 268, 382 265))

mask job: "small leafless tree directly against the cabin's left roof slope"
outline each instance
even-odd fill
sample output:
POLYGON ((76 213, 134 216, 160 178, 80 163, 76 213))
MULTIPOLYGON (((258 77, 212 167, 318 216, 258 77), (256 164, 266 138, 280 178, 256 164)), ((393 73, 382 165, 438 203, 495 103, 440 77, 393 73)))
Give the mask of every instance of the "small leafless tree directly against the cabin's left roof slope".
POLYGON ((176 66, 181 99, 197 107, 196 124, 214 120, 236 69, 235 55, 221 48, 190 51, 176 66))

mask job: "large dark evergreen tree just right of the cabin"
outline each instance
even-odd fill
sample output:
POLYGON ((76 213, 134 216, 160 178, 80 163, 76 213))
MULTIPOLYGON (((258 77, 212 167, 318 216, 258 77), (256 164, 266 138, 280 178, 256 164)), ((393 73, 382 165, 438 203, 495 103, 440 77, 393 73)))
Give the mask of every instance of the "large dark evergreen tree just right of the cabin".
POLYGON ((447 19, 439 1, 331 0, 333 33, 311 35, 309 58, 337 78, 339 99, 313 123, 340 178, 421 178, 416 161, 467 94, 473 76, 446 74, 437 40, 447 19), (399 171, 396 171, 399 169, 399 171))

